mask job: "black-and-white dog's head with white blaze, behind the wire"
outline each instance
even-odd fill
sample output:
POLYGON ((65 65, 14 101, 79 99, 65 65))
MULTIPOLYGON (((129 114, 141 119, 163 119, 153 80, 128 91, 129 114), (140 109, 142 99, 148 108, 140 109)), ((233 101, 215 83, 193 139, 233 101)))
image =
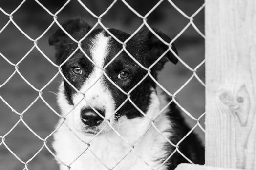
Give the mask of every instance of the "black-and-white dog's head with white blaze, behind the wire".
MULTIPOLYGON (((56 48, 57 64, 65 62, 62 72, 71 84, 64 79, 62 95, 59 97, 62 98, 59 99, 59 105, 63 112, 67 112, 65 108, 74 109, 70 114, 70 123, 81 132, 95 134, 107 121, 114 125, 121 117, 143 117, 141 112, 147 113, 152 102, 151 94, 156 88, 150 76, 145 77, 148 70, 144 68, 155 63, 168 46, 148 29, 144 29, 125 45, 128 53, 134 57, 131 58, 115 38, 103 29, 90 31, 92 27, 81 19, 68 20, 62 27, 77 41, 90 32, 81 42, 85 53, 81 50, 74 52, 78 44, 61 29, 49 38, 50 45, 56 48), (70 55, 72 57, 67 60, 70 55)), ((130 34, 116 29, 108 31, 122 42, 130 37, 130 34)), ((157 30, 154 32, 164 41, 171 41, 167 35, 157 30)), ((172 50, 176 52, 174 46, 172 50)), ((171 51, 166 52, 149 71, 155 79, 168 60, 174 64, 178 62, 171 51)))

